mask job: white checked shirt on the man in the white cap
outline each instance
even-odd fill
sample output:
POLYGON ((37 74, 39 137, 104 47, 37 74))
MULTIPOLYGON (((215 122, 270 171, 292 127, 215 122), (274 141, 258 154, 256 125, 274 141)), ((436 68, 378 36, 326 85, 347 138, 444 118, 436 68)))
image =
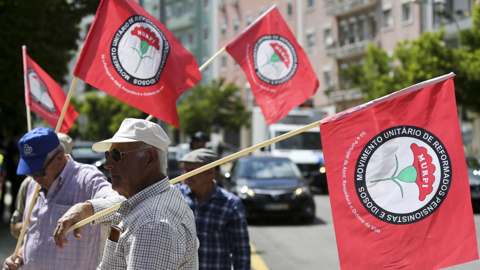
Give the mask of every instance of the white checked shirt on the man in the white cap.
POLYGON ((93 199, 94 213, 121 206, 93 220, 122 228, 117 242, 106 240, 100 269, 198 269, 193 213, 168 177, 125 200, 93 199))

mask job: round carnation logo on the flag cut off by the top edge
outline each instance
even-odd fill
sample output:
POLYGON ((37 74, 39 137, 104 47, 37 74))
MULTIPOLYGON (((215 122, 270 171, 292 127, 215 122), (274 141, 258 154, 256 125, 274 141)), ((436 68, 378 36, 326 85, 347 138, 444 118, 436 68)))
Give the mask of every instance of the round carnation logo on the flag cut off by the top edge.
POLYGON ((138 86, 158 82, 170 44, 150 19, 133 15, 118 28, 110 43, 110 59, 116 72, 138 86))

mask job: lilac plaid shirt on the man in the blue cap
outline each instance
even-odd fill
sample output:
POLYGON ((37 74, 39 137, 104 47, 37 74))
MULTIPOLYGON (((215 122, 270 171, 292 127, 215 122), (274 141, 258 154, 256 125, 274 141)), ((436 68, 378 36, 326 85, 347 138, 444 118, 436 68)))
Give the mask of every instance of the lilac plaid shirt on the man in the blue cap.
MULTIPOLYGON (((95 269, 98 264, 98 228, 84 226, 81 240, 75 239, 73 233, 66 234, 68 244, 61 251, 55 245, 53 231, 58 219, 73 204, 118 193, 95 166, 75 162, 69 155, 65 157, 68 161, 48 191, 38 191, 23 238, 23 270, 95 269)), ((25 209, 30 206, 35 184, 30 181, 28 185, 25 209)), ((23 220, 27 212, 23 213, 23 220)))

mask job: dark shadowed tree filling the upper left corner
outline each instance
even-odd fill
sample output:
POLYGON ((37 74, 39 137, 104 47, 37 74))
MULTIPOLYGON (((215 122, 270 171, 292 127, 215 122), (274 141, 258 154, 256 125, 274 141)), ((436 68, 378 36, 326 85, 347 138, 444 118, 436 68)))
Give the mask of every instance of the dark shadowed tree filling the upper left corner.
POLYGON ((0 0, 0 132, 26 131, 21 46, 54 80, 63 83, 77 49, 78 23, 99 0, 0 0))

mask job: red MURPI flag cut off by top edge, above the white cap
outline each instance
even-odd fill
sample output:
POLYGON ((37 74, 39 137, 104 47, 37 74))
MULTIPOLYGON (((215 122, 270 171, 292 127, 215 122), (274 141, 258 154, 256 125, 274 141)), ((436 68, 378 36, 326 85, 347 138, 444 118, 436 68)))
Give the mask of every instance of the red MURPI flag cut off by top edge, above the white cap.
POLYGON ((201 80, 193 55, 133 0, 101 0, 73 74, 177 128, 175 102, 201 80))

